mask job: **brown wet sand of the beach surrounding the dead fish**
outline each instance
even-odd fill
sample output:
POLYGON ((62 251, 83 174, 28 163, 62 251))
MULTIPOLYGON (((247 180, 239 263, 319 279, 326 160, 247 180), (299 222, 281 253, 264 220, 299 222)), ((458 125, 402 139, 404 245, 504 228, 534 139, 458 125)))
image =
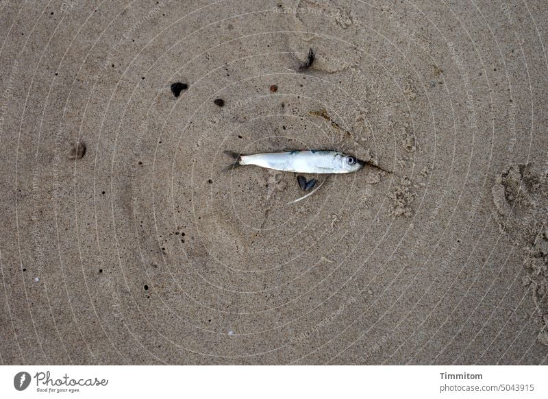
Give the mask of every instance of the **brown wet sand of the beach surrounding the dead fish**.
POLYGON ((0 3, 0 362, 547 365, 547 27, 537 0, 0 3), (295 173, 223 171, 286 149, 370 165, 294 204, 295 173))

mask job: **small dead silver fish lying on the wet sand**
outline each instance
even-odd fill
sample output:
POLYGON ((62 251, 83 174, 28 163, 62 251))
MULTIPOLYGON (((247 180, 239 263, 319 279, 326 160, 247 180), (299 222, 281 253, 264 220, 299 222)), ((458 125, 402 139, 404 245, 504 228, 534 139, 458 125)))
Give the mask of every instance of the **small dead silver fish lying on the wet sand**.
POLYGON ((253 155, 225 151, 225 154, 236 160, 226 167, 225 171, 244 165, 256 165, 295 173, 351 173, 359 171, 366 164, 351 155, 329 150, 271 152, 253 155))

